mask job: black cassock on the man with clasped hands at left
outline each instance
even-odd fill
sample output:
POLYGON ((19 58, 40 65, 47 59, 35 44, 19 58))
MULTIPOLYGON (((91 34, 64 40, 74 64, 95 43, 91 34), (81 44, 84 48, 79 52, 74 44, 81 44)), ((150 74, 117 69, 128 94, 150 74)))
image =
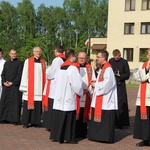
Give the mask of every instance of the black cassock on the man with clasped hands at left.
POLYGON ((2 71, 2 96, 0 101, 0 121, 19 123, 22 104, 22 93, 19 91, 23 63, 17 58, 7 61, 2 71), (12 86, 4 86, 4 82, 12 86))

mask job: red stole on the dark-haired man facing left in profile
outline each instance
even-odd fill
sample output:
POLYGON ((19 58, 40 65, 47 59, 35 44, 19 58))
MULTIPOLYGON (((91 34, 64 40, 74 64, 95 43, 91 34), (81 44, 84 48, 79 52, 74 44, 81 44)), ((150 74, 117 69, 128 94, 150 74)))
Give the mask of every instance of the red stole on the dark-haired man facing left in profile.
MULTIPOLYGON (((104 73, 105 70, 111 67, 109 62, 106 62, 100 72, 98 82, 103 82, 104 81, 104 73)), ((103 95, 96 96, 96 103, 95 103, 95 112, 94 112, 94 121, 95 122, 101 122, 101 117, 102 117, 102 103, 103 103, 103 95)), ((90 108, 90 114, 89 118, 91 119, 92 115, 92 107, 90 108)))

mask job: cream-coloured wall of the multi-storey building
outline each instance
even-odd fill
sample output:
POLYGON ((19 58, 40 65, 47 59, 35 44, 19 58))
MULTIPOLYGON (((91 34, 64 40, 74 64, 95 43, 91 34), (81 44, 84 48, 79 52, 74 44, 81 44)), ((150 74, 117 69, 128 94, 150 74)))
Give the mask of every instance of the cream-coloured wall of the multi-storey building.
POLYGON ((140 34, 141 22, 150 22, 150 10, 141 10, 142 0, 136 0, 135 11, 125 11, 125 0, 109 0, 107 50, 112 57, 112 51, 123 48, 133 48, 133 62, 130 68, 137 68, 139 49, 150 47, 150 34, 140 34), (135 23, 134 34, 124 34, 124 23, 135 23))

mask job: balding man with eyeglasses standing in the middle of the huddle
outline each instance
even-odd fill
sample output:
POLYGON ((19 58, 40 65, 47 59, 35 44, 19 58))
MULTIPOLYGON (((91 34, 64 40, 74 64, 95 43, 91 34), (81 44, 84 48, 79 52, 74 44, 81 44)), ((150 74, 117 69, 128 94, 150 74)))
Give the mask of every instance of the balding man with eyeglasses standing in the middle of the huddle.
POLYGON ((92 87, 91 81, 95 81, 95 73, 93 67, 87 62, 87 55, 84 51, 80 51, 78 54, 78 62, 75 66, 79 69, 82 81, 84 95, 80 97, 80 116, 76 121, 76 136, 86 138, 87 134, 87 120, 88 112, 91 104, 92 87))

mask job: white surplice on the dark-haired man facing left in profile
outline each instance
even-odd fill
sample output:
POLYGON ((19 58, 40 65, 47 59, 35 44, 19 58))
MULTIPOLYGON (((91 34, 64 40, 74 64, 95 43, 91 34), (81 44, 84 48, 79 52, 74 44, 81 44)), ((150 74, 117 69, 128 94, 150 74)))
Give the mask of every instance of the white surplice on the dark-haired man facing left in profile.
POLYGON ((101 71, 102 69, 100 69, 95 83, 91 107, 95 108, 96 96, 103 95, 102 110, 117 110, 118 97, 114 72, 111 67, 106 68, 103 77, 104 80, 98 82, 101 71))

